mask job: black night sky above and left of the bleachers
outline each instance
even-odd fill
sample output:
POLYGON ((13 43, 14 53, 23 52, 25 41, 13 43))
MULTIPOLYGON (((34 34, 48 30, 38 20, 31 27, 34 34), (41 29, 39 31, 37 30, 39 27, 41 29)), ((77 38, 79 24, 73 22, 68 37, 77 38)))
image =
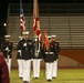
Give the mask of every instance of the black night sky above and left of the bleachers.
MULTIPOLYGON (((39 3, 84 3, 83 0, 38 0, 39 3)), ((7 10, 9 3, 19 3, 20 0, 0 0, 0 38, 6 34, 7 10)), ((33 0, 22 0, 23 3, 32 3, 33 0)))

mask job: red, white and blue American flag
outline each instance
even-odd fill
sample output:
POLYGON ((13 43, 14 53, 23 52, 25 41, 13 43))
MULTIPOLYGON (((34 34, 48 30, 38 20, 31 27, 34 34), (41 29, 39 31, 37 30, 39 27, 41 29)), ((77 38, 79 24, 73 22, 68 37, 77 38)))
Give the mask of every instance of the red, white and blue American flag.
POLYGON ((25 20, 22 9, 22 0, 20 0, 20 29, 22 29, 22 31, 25 31, 25 20))

